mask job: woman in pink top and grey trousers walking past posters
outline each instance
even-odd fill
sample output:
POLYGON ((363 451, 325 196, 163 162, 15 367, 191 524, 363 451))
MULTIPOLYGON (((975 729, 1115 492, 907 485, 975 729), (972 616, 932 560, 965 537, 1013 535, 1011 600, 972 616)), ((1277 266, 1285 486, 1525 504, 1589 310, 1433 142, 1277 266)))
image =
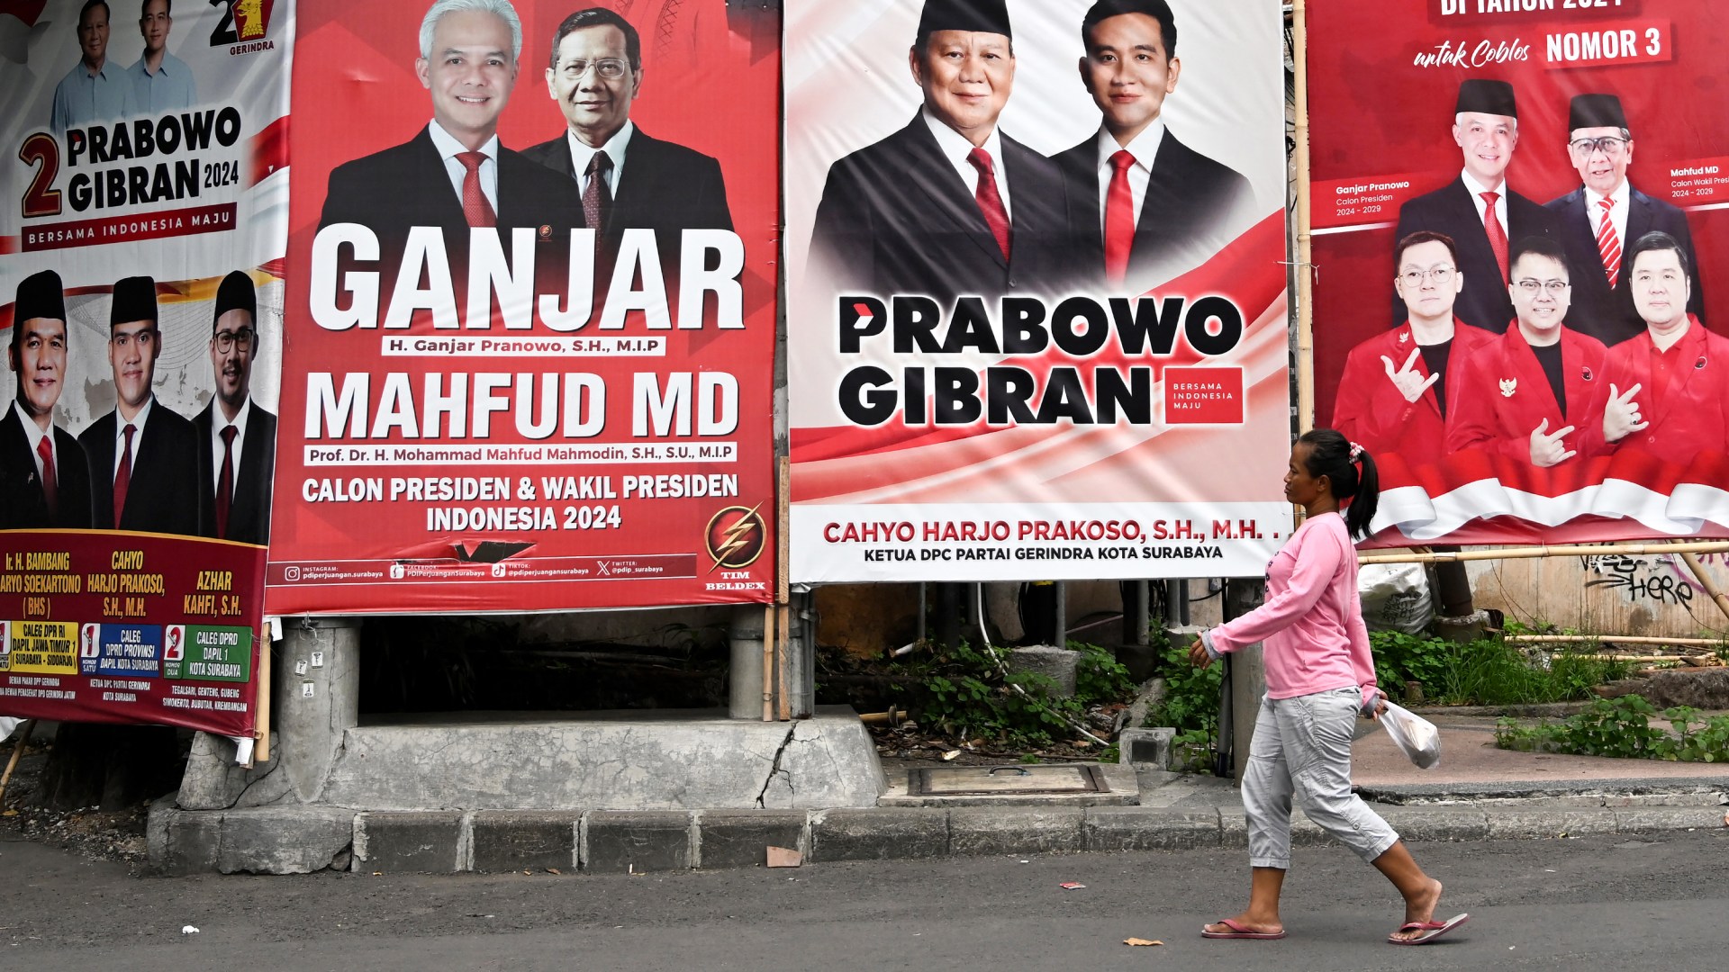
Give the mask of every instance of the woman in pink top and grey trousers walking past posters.
POLYGON ((1404 925, 1387 941, 1423 944, 1463 925, 1437 922, 1440 882, 1423 873, 1399 834, 1350 792, 1350 737, 1357 713, 1385 711, 1375 687, 1369 635, 1357 600, 1354 536, 1366 536, 1380 483, 1375 460, 1333 429, 1314 429, 1292 448, 1285 498, 1307 519, 1267 566, 1267 600, 1205 631, 1190 659, 1212 659, 1262 642, 1267 694, 1243 773, 1248 816, 1248 910, 1202 929, 1205 937, 1278 939, 1279 889, 1292 858, 1292 792, 1304 811, 1394 882, 1406 901, 1404 925), (1340 515, 1340 503, 1350 505, 1340 515))

